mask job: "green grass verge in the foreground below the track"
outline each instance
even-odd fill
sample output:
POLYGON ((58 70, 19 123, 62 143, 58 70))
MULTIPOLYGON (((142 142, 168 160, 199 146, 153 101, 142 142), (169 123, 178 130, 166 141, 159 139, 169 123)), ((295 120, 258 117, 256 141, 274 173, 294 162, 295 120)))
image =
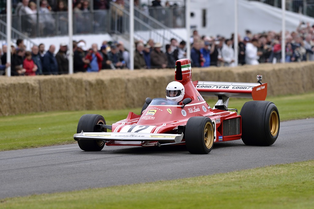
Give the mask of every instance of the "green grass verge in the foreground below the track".
POLYGON ((31 195, 1 208, 313 208, 314 160, 210 176, 31 195))

